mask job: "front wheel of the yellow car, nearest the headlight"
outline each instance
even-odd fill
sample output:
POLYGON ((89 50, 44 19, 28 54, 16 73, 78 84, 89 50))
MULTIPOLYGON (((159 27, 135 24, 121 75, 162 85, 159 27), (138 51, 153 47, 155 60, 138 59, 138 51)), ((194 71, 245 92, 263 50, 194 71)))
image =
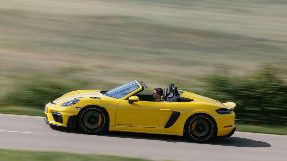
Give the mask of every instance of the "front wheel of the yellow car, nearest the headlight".
POLYGON ((105 110, 98 106, 89 106, 80 111, 77 118, 78 127, 87 134, 100 134, 109 125, 105 110))

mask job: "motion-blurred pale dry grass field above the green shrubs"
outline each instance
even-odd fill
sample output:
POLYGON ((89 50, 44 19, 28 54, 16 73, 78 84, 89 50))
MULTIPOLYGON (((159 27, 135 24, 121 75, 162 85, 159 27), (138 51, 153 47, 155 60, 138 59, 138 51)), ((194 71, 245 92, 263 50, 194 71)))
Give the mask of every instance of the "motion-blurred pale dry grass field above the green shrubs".
POLYGON ((94 82, 131 80, 187 89, 219 66, 244 74, 287 60, 286 1, 2 0, 0 86, 39 74, 94 82), (60 72, 59 72, 60 71, 60 72))

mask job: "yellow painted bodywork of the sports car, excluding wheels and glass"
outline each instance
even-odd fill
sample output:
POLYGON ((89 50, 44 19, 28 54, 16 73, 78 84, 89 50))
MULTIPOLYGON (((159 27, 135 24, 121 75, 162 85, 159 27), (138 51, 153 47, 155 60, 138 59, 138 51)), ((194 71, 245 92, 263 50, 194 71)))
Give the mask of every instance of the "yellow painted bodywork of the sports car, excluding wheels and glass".
POLYGON ((58 126, 66 126, 69 116, 77 115, 85 107, 99 106, 105 109, 109 115, 110 131, 183 136, 184 126, 188 118, 201 113, 208 114, 214 119, 217 126, 217 136, 225 136, 235 127, 235 113, 233 111, 230 114, 218 114, 215 111, 220 108, 233 110, 235 103, 220 103, 211 98, 187 91, 181 91, 179 93, 180 97, 187 97, 194 101, 156 102, 140 100, 130 104, 128 98, 144 90, 141 83, 136 82, 139 88, 121 99, 103 95, 100 90, 79 90, 67 93, 46 104, 48 111, 45 114, 48 122, 58 126), (79 98, 80 102, 68 107, 61 106, 61 104, 76 98, 79 98), (62 115, 63 123, 54 121, 52 112, 59 112, 62 115), (165 128, 173 112, 180 112, 180 115, 171 127, 165 128))

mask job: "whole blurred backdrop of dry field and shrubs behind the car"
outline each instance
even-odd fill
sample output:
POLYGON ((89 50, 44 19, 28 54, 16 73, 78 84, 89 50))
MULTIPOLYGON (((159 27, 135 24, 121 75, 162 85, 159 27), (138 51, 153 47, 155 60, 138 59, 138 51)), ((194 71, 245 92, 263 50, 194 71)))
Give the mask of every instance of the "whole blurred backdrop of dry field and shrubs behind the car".
POLYGON ((285 0, 1 0, 0 112, 44 115, 80 89, 143 81, 287 124, 285 0))

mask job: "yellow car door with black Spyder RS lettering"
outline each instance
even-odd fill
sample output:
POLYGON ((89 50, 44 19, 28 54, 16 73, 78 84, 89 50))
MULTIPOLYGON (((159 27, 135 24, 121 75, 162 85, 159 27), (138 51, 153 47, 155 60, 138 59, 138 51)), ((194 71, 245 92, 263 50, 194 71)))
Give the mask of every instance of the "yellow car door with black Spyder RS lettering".
POLYGON ((116 126, 159 127, 172 114, 172 103, 138 101, 131 104, 122 100, 117 105, 116 126))

